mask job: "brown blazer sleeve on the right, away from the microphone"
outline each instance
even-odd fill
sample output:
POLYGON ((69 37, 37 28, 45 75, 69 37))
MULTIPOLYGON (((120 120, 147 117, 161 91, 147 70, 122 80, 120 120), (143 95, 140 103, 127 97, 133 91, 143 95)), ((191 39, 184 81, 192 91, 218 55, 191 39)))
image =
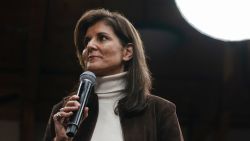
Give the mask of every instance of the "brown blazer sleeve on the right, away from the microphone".
POLYGON ((158 103, 158 141, 184 141, 174 103, 161 100, 158 103))

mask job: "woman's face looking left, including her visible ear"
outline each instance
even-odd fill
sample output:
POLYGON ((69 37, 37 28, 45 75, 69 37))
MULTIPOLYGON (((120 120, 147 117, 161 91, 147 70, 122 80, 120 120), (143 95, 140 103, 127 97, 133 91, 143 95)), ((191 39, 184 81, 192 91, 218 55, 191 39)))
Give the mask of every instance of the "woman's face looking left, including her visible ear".
POLYGON ((123 47, 112 27, 99 21, 87 29, 82 52, 85 68, 97 76, 124 71, 124 62, 132 58, 131 46, 123 47))

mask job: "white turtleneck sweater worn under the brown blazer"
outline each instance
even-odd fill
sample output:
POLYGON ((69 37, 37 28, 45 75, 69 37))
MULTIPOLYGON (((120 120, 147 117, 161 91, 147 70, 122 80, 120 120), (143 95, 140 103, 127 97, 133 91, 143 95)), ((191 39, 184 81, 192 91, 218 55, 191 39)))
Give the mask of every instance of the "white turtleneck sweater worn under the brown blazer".
POLYGON ((114 109, 125 96, 127 72, 97 77, 95 93, 99 100, 99 114, 91 141, 123 141, 120 117, 114 109))

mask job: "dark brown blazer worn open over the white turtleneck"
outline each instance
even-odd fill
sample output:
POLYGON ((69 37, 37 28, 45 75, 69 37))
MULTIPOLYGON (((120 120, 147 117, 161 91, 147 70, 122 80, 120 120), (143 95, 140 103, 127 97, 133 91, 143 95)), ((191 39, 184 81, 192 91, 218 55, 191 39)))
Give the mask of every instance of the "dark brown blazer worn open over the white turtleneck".
MULTIPOLYGON (((80 125, 73 141, 90 141, 98 116, 98 98, 91 98, 88 117, 80 125)), ((148 95, 147 107, 139 114, 121 116, 124 141, 183 141, 175 105, 163 98, 148 95)), ((53 107, 44 135, 44 141, 55 136, 52 116, 61 108, 63 101, 53 107)), ((119 106, 118 106, 119 109, 119 106)))

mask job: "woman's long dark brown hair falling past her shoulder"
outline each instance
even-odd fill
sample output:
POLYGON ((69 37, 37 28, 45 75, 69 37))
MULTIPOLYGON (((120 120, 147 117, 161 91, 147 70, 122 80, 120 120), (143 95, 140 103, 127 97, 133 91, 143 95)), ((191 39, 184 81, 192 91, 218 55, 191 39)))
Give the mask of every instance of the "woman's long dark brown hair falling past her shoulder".
POLYGON ((151 74, 146 63, 143 43, 135 27, 118 12, 106 9, 95 9, 85 12, 78 20, 74 31, 74 43, 77 57, 83 70, 85 68, 82 50, 85 47, 83 39, 87 29, 99 21, 110 26, 121 44, 133 46, 133 57, 126 62, 125 70, 128 72, 126 81, 126 97, 119 102, 125 113, 137 113, 146 106, 146 97, 151 90, 151 74))

